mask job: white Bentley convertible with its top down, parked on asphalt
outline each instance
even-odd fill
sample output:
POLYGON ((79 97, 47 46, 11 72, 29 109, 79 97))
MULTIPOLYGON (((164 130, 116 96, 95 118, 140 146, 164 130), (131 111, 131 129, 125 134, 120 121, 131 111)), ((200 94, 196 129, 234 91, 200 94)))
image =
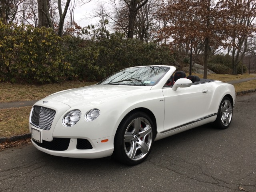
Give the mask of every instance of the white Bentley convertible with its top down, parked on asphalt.
POLYGON ((36 102, 29 118, 32 144, 56 156, 112 155, 136 165, 156 140, 210 122, 228 128, 234 86, 175 71, 174 66, 126 68, 96 85, 36 102))

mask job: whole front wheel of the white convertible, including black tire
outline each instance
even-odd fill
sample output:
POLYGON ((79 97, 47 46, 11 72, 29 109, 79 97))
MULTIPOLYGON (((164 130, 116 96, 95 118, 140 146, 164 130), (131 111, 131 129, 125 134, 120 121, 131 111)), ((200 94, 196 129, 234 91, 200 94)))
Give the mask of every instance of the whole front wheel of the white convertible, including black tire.
POLYGON ((140 164, 150 154, 155 136, 154 123, 146 113, 128 114, 116 131, 114 158, 127 165, 140 164))

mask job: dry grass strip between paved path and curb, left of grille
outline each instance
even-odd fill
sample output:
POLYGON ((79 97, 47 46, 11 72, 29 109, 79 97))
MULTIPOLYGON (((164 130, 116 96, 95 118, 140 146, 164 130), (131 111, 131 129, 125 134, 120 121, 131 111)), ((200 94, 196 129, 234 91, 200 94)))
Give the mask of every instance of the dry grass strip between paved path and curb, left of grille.
POLYGON ((0 137, 29 133, 28 119, 31 107, 0 109, 0 137))

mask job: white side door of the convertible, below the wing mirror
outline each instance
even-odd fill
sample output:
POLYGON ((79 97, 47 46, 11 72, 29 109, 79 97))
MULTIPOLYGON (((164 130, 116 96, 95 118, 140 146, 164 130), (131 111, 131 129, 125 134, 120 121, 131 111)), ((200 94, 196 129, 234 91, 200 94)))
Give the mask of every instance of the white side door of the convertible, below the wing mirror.
POLYGON ((163 88, 165 98, 164 132, 180 129, 204 118, 210 93, 205 84, 193 84, 190 87, 163 88))

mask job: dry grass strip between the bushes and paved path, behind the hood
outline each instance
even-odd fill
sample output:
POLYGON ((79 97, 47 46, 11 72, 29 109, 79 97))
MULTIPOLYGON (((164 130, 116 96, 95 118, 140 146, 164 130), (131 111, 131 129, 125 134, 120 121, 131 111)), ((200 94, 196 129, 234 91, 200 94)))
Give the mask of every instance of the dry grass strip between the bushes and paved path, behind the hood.
POLYGON ((93 84, 96 84, 96 82, 67 81, 64 83, 43 85, 25 83, 12 84, 2 82, 0 83, 0 102, 39 100, 58 91, 93 84))

